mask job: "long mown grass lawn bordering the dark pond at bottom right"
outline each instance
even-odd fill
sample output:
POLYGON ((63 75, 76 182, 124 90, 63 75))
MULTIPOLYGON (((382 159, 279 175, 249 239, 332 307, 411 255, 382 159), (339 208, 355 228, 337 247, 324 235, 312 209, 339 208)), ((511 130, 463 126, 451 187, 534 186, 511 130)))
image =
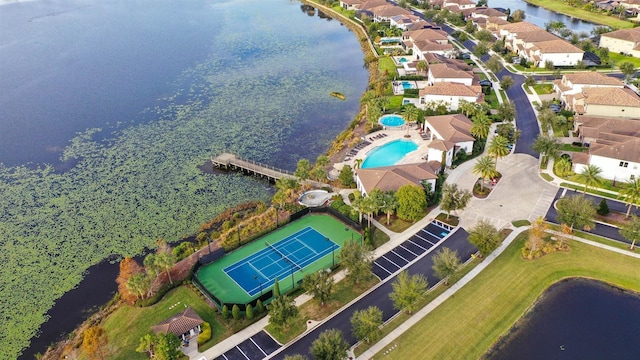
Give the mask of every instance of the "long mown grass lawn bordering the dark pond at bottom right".
POLYGON ((420 354, 424 359, 478 359, 549 286, 569 277, 640 291, 638 259, 572 241, 569 251, 523 260, 525 238, 521 234, 455 296, 399 337, 397 348, 376 358, 410 359, 420 354))

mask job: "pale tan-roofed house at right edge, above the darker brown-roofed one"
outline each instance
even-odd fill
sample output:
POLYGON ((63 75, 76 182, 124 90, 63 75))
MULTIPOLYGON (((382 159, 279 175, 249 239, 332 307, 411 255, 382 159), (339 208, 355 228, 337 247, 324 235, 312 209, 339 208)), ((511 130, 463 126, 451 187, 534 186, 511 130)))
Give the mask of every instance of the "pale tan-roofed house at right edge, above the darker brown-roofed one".
POLYGON ((640 118, 640 97, 627 88, 584 87, 567 107, 579 115, 640 118))

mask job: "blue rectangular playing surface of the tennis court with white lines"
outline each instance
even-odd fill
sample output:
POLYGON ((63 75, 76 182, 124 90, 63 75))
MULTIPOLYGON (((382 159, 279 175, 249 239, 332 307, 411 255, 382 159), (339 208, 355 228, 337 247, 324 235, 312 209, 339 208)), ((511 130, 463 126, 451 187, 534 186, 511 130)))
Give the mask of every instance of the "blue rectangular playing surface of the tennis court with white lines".
POLYGON ((282 280, 292 271, 302 270, 340 248, 310 226, 275 244, 266 245, 266 248, 224 269, 249 296, 268 289, 276 277, 282 280))

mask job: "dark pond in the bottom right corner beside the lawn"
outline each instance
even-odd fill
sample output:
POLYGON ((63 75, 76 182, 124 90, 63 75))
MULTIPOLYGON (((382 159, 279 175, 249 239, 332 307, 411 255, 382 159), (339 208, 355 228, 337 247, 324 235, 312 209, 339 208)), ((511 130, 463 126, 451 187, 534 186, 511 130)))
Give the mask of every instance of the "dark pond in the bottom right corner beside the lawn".
POLYGON ((490 359, 637 359, 640 296, 602 282, 551 286, 490 359))

